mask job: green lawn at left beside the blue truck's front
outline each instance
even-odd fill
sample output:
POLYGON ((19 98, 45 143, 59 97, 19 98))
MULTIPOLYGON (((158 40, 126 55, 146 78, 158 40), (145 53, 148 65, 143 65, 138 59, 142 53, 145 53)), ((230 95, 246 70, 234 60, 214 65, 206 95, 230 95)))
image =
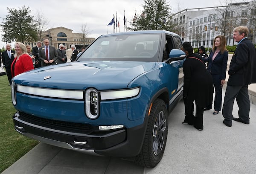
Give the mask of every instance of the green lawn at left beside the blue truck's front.
POLYGON ((12 116, 16 110, 8 84, 7 75, 0 76, 0 173, 38 144, 14 129, 12 116))

